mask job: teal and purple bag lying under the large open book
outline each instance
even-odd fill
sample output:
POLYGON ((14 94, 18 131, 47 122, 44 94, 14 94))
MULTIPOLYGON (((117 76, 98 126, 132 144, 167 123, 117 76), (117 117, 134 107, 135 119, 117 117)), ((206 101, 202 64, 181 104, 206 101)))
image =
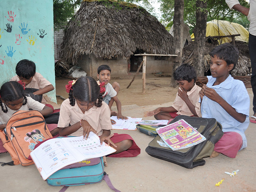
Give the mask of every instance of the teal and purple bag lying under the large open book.
POLYGON ((63 167, 48 177, 46 182, 50 186, 65 186, 60 190, 64 192, 69 186, 100 183, 102 180, 105 180, 112 190, 120 192, 104 172, 102 157, 98 157, 63 167))

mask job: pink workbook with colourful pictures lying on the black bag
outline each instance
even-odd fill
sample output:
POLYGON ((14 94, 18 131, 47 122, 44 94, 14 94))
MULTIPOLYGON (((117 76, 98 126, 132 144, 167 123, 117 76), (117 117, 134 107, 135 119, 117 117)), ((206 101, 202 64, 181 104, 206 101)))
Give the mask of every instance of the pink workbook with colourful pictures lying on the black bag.
POLYGON ((183 119, 159 127, 156 132, 173 151, 191 147, 205 140, 202 134, 183 119))

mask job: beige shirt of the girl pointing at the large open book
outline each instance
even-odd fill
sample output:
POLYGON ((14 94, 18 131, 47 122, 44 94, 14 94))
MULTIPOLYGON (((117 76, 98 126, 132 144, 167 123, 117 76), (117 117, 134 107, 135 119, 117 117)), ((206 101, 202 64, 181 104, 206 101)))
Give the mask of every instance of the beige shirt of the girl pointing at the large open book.
MULTIPOLYGON (((98 136, 102 134, 103 129, 112 129, 110 121, 110 109, 104 101, 102 101, 101 107, 92 107, 83 113, 78 107, 77 103, 75 103, 74 106, 71 106, 69 99, 64 100, 60 106, 58 127, 68 127, 69 124, 76 124, 77 122, 80 122, 81 119, 86 120, 92 126, 92 128, 98 132, 98 136)), ((83 130, 83 127, 81 127, 70 135, 81 136, 83 135, 83 130)))

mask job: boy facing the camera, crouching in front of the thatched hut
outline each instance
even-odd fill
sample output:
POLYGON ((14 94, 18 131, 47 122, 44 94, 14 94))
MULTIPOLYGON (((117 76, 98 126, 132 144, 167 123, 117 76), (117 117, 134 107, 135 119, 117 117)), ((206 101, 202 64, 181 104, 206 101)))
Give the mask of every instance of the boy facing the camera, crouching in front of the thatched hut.
POLYGON ((111 69, 108 65, 101 65, 98 67, 98 74, 97 78, 99 79, 99 84, 103 97, 103 101, 108 104, 108 107, 111 111, 111 107, 113 102, 116 102, 116 108, 117 108, 117 113, 116 111, 111 111, 111 116, 117 116, 117 119, 128 119, 125 116, 122 116, 122 106, 120 100, 117 98, 117 94, 120 89, 120 85, 117 82, 113 83, 113 86, 109 83, 110 81, 110 73, 111 69))

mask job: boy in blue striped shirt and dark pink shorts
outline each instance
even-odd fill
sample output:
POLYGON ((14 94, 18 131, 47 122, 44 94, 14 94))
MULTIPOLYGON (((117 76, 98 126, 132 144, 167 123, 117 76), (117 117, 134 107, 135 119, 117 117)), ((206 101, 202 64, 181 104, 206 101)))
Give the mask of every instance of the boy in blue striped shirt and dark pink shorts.
POLYGON ((212 49, 208 83, 200 91, 202 117, 215 118, 224 135, 215 144, 210 157, 220 153, 235 158, 247 146, 244 131, 249 125, 250 98, 240 80, 229 73, 236 67, 238 49, 229 43, 212 49))

